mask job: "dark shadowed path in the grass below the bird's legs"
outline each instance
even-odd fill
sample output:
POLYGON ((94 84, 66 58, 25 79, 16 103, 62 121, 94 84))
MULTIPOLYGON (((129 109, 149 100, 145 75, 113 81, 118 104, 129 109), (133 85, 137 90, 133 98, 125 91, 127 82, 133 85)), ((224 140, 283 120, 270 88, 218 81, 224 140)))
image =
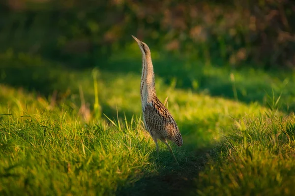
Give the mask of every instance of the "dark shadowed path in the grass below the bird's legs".
MULTIPOLYGON (((213 145, 207 148, 195 148, 194 151, 186 152, 186 157, 183 156, 181 160, 177 153, 179 165, 165 149, 165 152, 160 153, 160 160, 155 160, 156 171, 143 176, 131 186, 119 187, 117 195, 189 195, 191 191, 196 190, 199 172, 205 169, 213 148, 213 145)), ((154 153, 150 159, 155 158, 154 153)))

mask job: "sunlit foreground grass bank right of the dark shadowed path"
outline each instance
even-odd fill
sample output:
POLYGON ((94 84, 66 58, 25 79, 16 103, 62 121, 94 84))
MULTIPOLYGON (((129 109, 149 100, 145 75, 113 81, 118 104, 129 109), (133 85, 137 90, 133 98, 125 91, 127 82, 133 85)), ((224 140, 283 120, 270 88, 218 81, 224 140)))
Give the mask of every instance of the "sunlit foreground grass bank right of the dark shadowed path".
POLYGON ((293 195, 295 115, 259 115, 236 125, 222 146, 223 155, 200 174, 195 193, 293 195))

